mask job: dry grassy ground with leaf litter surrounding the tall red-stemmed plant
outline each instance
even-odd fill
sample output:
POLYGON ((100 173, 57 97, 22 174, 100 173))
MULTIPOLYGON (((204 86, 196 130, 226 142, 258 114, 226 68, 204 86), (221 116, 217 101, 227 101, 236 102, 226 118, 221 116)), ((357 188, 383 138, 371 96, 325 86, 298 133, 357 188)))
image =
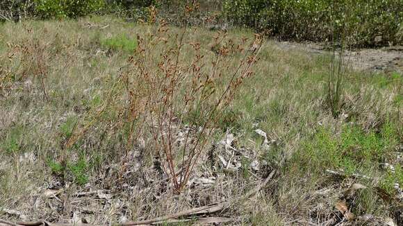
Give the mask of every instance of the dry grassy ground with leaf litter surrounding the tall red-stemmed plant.
MULTIPOLYGON (((329 57, 267 40, 254 76, 215 125, 178 195, 158 168, 151 137, 126 146, 128 94, 118 79, 138 47, 135 37, 155 30, 114 17, 0 25, 0 218, 147 219, 238 197, 275 169, 257 195, 216 215, 231 217, 229 225, 402 223, 400 73, 347 73, 334 119, 326 100, 329 57), (77 195, 94 190, 102 191, 77 195)), ((215 35, 189 28, 185 49, 199 42, 208 62, 215 35)), ((228 36, 254 38, 245 30, 228 36)), ((186 60, 192 52, 183 54, 186 60)), ((239 59, 227 58, 229 65, 239 59)))

